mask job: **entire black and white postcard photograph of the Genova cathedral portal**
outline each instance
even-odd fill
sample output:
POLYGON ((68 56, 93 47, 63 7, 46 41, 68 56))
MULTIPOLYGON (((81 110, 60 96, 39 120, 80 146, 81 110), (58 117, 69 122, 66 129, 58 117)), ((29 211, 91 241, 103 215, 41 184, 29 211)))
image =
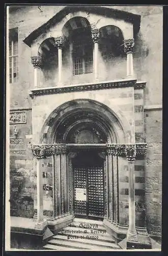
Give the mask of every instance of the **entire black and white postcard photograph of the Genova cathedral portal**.
POLYGON ((6 251, 161 251, 163 7, 7 4, 6 251))

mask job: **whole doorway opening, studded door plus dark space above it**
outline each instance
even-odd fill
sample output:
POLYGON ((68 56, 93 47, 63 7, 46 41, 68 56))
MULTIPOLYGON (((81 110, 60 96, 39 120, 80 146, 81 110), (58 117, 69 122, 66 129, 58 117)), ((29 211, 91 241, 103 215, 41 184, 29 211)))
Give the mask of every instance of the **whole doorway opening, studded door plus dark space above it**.
POLYGON ((72 160, 74 215, 103 220, 104 163, 97 151, 80 152, 72 160))

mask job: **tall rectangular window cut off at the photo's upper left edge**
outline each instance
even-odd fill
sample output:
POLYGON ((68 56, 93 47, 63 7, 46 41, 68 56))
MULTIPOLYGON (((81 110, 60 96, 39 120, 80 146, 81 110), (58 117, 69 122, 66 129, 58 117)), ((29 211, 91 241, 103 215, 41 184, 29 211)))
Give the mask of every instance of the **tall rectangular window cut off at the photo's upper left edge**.
POLYGON ((18 29, 9 30, 9 81, 18 80, 18 29))

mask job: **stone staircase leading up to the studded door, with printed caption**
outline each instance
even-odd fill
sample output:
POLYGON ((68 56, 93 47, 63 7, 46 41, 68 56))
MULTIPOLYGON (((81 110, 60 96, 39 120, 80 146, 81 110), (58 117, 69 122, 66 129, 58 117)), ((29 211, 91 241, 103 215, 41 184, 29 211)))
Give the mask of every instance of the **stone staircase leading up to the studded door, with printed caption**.
POLYGON ((101 221, 75 218, 43 246, 45 250, 113 251, 121 248, 106 232, 101 221))

